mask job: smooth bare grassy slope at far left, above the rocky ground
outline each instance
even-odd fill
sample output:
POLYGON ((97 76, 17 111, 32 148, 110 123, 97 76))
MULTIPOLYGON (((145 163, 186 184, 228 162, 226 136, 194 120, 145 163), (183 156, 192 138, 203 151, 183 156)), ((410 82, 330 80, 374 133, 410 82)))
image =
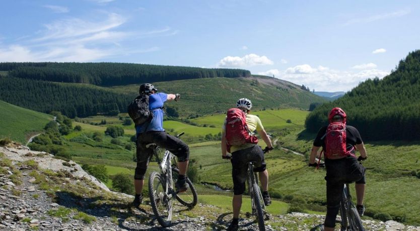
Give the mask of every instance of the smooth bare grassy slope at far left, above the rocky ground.
POLYGON ((0 138, 26 144, 30 134, 41 132, 52 116, 0 100, 0 138))

